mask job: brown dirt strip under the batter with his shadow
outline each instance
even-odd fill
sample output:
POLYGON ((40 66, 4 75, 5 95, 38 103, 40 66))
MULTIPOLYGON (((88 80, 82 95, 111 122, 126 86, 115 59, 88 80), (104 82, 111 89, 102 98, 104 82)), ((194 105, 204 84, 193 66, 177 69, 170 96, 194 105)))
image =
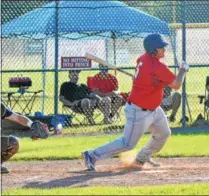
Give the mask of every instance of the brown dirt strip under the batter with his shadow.
POLYGON ((143 186, 208 182, 209 157, 156 158, 161 167, 123 168, 118 159, 97 162, 97 171, 85 171, 82 160, 8 162, 2 190, 88 186, 143 186))

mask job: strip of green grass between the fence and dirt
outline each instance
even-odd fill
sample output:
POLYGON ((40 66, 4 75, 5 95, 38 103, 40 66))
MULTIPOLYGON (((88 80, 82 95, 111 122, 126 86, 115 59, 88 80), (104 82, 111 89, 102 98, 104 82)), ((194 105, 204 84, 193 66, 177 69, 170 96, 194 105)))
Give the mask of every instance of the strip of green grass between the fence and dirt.
MULTIPOLYGON (((11 161, 28 160, 70 160, 78 159, 81 152, 108 143, 119 135, 63 137, 31 141, 20 139, 20 150, 11 161), (38 153, 37 153, 38 152, 38 153)), ((144 135, 136 149, 140 149, 150 138, 144 135)), ((209 134, 172 135, 158 157, 209 156, 209 134)))

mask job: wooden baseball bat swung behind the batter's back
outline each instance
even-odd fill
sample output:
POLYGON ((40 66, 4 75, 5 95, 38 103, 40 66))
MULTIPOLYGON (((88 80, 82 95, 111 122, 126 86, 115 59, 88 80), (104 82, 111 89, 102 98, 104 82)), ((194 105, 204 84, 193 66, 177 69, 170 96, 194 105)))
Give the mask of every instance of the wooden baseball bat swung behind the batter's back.
POLYGON ((117 67, 114 66, 114 65, 111 65, 111 64, 108 63, 107 61, 104 61, 104 60, 102 60, 101 58, 99 58, 99 57, 97 57, 97 56, 94 56, 94 55, 92 55, 92 54, 86 53, 85 57, 86 57, 87 59, 93 60, 93 61, 95 61, 95 62, 97 62, 97 63, 99 63, 99 64, 102 64, 102 65, 104 65, 104 66, 107 66, 107 67, 109 67, 109 68, 111 68, 111 69, 114 69, 114 70, 116 70, 116 71, 119 71, 119 72, 121 72, 121 73, 123 73, 123 74, 126 74, 127 76, 130 76, 130 77, 132 77, 132 78, 134 77, 133 74, 131 74, 131 73, 127 72, 127 71, 124 71, 124 70, 122 70, 122 69, 120 69, 120 68, 117 68, 117 67))

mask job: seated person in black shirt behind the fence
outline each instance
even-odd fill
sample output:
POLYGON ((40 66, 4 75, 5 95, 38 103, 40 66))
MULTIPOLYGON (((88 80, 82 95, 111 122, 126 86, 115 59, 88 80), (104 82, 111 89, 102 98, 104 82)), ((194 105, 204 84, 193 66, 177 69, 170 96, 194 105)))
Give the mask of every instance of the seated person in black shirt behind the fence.
MULTIPOLYGON (((69 71, 70 81, 61 85, 59 100, 72 111, 84 114, 89 123, 94 125, 94 109, 97 107, 97 103, 102 101, 99 96, 90 93, 85 84, 78 84, 79 73, 79 70, 69 71)), ((105 108, 104 104, 102 106, 105 108)))

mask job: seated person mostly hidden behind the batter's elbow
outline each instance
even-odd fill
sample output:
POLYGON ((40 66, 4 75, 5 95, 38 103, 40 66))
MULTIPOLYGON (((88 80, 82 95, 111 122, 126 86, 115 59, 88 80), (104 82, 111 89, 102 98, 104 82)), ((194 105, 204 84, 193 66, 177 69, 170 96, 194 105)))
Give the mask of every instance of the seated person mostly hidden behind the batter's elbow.
POLYGON ((165 86, 161 107, 165 112, 172 110, 169 121, 175 122, 176 113, 181 105, 181 94, 179 92, 172 93, 171 91, 172 89, 169 86, 165 86))

